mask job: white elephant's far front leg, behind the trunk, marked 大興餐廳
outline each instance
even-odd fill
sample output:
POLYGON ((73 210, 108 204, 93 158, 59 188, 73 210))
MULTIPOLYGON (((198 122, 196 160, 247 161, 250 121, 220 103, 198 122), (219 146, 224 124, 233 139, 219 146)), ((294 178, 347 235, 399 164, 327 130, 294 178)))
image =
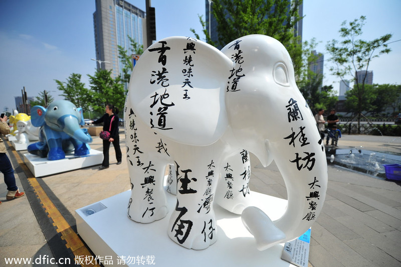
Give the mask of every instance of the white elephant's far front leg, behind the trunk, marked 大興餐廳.
POLYGON ((223 162, 216 191, 216 202, 222 208, 241 214, 250 206, 249 179, 251 162, 248 151, 239 150, 223 162))

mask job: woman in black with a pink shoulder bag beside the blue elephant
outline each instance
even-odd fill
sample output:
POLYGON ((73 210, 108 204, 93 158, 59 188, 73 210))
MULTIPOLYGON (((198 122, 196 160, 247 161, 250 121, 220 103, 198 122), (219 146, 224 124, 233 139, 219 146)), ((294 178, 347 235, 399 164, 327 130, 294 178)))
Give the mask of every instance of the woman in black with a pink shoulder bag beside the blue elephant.
POLYGON ((103 140, 103 163, 102 166, 99 167, 100 170, 109 168, 110 143, 113 143, 114 150, 116 152, 117 165, 121 164, 121 157, 122 157, 120 149, 120 137, 118 135, 118 124, 119 124, 119 118, 117 116, 118 109, 112 104, 107 104, 105 112, 106 114, 104 114, 103 117, 93 122, 94 124, 103 122, 103 130, 107 131, 109 131, 110 129, 110 122, 111 122, 110 139, 103 140))

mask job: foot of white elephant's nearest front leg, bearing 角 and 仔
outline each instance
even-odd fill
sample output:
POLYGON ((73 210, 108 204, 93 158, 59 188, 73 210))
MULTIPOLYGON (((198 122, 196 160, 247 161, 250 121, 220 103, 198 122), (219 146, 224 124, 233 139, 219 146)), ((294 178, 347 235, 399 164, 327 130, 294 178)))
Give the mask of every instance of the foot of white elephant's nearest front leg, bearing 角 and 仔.
POLYGON ((217 241, 217 221, 214 212, 199 216, 195 211, 190 218, 183 210, 171 214, 168 236, 177 244, 195 250, 208 248, 217 241), (195 214, 196 213, 196 214, 195 214))

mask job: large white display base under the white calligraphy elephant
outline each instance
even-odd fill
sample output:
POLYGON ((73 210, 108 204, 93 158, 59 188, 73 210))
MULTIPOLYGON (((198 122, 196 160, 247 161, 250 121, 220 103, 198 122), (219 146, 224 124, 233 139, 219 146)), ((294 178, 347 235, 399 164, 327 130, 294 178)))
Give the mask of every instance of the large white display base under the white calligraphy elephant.
MULTIPOLYGON (((143 256, 144 260, 153 256, 156 266, 294 266, 281 259, 283 244, 259 251, 254 237, 243 225, 241 216, 217 205, 216 243, 204 250, 184 248, 167 235, 167 224, 171 210, 175 207, 175 196, 166 193, 170 209, 166 217, 143 224, 134 222, 127 216, 130 194, 131 191, 128 190, 76 210, 78 234, 100 259, 112 258, 113 265, 125 263, 134 266, 138 265, 138 256, 143 256)), ((272 220, 281 217, 287 206, 287 200, 284 199, 256 192, 251 192, 250 196, 252 203, 265 211, 272 220)), ((145 265, 147 264, 151 263, 145 261, 145 265)))

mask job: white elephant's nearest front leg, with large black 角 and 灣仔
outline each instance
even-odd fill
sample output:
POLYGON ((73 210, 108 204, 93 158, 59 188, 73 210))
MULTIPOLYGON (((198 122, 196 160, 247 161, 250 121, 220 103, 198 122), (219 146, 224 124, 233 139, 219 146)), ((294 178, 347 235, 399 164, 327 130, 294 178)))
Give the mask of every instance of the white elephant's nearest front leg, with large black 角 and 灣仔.
POLYGON ((205 249, 217 240, 213 200, 220 162, 207 153, 190 153, 202 155, 200 158, 188 154, 177 161, 177 202, 167 232, 174 242, 186 248, 205 249))

